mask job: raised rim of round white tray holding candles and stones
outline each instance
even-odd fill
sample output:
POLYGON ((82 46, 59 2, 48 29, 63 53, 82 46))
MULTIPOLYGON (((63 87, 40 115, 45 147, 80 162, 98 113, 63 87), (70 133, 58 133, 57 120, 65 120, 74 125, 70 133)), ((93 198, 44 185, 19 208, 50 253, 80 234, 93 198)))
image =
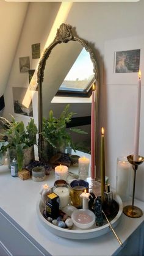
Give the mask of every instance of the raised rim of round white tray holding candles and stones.
MULTIPOLYGON (((119 204, 119 211, 118 214, 115 216, 112 221, 110 221, 110 224, 112 224, 112 227, 116 227, 118 222, 120 221, 121 214, 123 213, 123 203, 121 201, 120 196, 116 196, 115 200, 119 204)), ((96 227, 94 224, 93 227, 90 227, 90 229, 82 230, 78 229, 76 226, 73 225, 72 229, 62 229, 60 227, 57 227, 56 225, 53 225, 51 222, 46 221, 46 219, 43 217, 43 206, 41 205, 41 200, 37 203, 37 213, 38 216, 42 222, 42 224, 54 235, 62 236, 63 238, 69 238, 69 239, 76 239, 76 240, 83 240, 83 239, 90 239, 95 238, 97 236, 101 236, 106 234, 110 231, 109 224, 105 224, 101 227, 96 227)))

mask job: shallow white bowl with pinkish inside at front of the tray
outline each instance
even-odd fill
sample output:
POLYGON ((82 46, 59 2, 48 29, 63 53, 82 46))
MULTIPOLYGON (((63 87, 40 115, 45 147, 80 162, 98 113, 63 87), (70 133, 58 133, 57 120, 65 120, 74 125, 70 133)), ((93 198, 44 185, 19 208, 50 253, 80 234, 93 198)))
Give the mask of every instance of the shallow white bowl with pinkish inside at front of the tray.
POLYGON ((90 210, 78 209, 73 211, 71 219, 79 229, 88 229, 95 223, 95 214, 90 210))

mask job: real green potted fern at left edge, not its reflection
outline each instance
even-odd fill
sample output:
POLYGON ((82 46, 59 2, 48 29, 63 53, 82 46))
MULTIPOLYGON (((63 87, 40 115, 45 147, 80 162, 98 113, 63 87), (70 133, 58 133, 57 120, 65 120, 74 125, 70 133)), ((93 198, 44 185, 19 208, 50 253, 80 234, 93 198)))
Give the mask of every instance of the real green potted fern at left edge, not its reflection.
POLYGON ((7 137, 7 159, 8 165, 13 158, 17 159, 18 170, 34 160, 34 145, 36 144, 37 126, 34 119, 31 119, 26 128, 23 121, 16 122, 12 116, 12 121, 0 117, 3 128, 2 135, 7 137))

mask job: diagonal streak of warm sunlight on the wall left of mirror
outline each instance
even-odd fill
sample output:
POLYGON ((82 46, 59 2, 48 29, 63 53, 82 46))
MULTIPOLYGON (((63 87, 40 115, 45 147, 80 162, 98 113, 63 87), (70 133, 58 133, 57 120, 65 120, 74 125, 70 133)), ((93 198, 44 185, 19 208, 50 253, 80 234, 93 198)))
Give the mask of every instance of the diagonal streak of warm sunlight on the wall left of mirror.
MULTIPOLYGON (((45 48, 43 49, 41 56, 43 56, 45 49, 50 45, 52 40, 54 40, 54 37, 56 37, 57 28, 60 26, 60 24, 64 23, 65 20, 67 20, 68 13, 70 12, 72 5, 73 5, 73 2, 62 2, 60 4, 59 11, 57 12, 56 19, 54 20, 51 31, 49 32, 48 39, 46 40, 45 48)), ((37 64, 37 67, 35 68, 35 73, 33 75, 33 77, 36 77, 36 78, 37 78, 37 69, 38 69, 38 64, 37 64)), ((35 81, 35 87, 37 87, 37 81, 35 81)), ((24 96, 24 99, 22 102, 22 104, 26 106, 26 108, 29 108, 29 105, 32 101, 32 96, 34 97, 34 94, 35 94, 35 91, 29 90, 29 87, 28 87, 26 95, 24 96)))

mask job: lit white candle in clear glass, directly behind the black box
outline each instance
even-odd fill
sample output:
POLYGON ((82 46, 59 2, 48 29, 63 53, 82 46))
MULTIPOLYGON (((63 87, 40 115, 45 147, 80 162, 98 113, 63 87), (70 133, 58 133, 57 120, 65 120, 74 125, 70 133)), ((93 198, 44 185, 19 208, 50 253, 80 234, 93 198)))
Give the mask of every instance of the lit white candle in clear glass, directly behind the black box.
POLYGON ((59 186, 56 185, 53 188, 53 191, 57 196, 59 196, 60 199, 60 209, 63 207, 66 207, 69 203, 69 197, 70 197, 70 188, 68 185, 59 186))

